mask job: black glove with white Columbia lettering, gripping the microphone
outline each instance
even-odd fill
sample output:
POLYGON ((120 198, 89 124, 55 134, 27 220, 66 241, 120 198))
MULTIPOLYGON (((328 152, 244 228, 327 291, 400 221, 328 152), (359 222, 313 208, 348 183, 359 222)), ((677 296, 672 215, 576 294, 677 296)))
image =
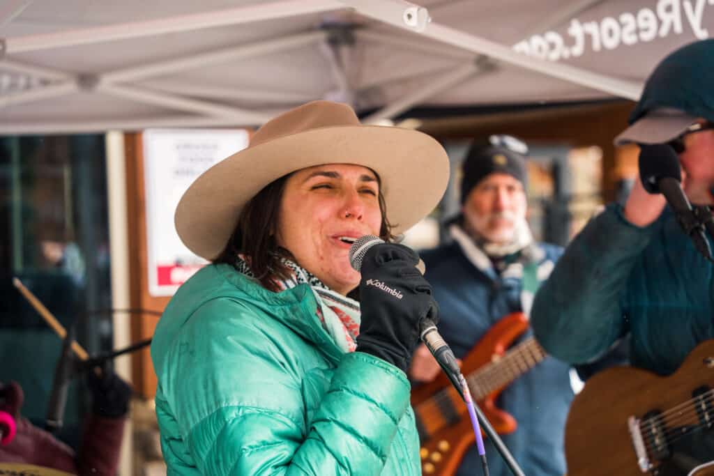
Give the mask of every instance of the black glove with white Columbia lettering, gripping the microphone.
POLYGON ((419 256, 403 245, 374 245, 362 261, 359 283, 362 322, 357 350, 406 373, 419 343, 421 321, 438 322, 431 285, 416 269, 419 256))

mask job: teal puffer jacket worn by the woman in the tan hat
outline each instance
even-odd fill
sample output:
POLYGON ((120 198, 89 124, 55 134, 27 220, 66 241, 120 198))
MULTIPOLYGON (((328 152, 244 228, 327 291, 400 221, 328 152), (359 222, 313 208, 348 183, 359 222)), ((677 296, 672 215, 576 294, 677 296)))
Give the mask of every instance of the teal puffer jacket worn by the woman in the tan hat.
POLYGON ((151 344, 169 475, 421 473, 406 375, 339 350, 316 305, 228 265, 179 288, 151 344))

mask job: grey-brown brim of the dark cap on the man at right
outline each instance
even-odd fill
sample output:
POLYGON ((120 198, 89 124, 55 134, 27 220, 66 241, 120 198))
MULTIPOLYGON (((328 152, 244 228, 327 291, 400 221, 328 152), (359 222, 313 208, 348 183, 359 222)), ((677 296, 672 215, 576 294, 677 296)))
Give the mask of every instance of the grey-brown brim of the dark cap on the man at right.
POLYGON ((685 113, 650 113, 626 128, 615 137, 614 142, 617 146, 626 143, 666 143, 680 136, 696 119, 685 113))

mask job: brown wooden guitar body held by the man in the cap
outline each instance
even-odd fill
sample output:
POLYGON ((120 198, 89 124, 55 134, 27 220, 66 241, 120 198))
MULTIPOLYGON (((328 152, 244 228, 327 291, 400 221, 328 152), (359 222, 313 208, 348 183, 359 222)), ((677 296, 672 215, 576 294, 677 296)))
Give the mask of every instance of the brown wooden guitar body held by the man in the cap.
MULTIPOLYGON (((676 411, 668 413, 675 420, 665 420, 667 425, 698 425, 695 406, 687 402, 692 401, 693 390, 703 386, 714 388, 714 340, 698 345, 677 372, 668 377, 628 367, 610 368, 594 375, 575 396, 568 412, 568 476, 648 474, 638 465, 628 417, 642 419, 652 410, 666 412, 676 407, 676 411)), ((656 469, 661 460, 648 454, 656 469)), ((698 475, 710 470, 702 469, 698 475)))

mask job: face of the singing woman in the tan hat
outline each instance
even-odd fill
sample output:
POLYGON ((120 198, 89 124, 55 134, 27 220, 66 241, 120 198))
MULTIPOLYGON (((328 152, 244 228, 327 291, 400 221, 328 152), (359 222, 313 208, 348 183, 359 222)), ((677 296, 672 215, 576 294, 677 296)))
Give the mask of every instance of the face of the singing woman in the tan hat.
POLYGON ((353 240, 379 235, 382 213, 373 171, 351 164, 303 168, 286 181, 276 240, 303 268, 343 295, 359 284, 353 240))

